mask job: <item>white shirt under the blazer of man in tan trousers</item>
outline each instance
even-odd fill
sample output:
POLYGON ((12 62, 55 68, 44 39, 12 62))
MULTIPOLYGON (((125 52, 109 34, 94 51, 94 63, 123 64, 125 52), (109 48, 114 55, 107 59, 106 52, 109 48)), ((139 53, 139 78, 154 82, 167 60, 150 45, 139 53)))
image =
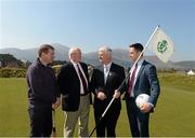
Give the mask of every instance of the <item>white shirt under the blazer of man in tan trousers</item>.
POLYGON ((88 80, 87 80, 86 74, 84 74, 84 72, 83 72, 83 70, 82 70, 82 67, 80 66, 79 63, 77 64, 77 63, 75 63, 75 61, 73 61, 73 60, 70 60, 70 61, 72 61, 72 64, 74 65, 75 70, 76 70, 77 75, 78 75, 79 81, 80 81, 80 94, 84 94, 83 85, 82 85, 82 80, 81 80, 81 78, 80 78, 79 70, 78 70, 78 67, 79 67, 80 71, 81 71, 81 73, 82 73, 82 75, 83 75, 83 78, 84 78, 84 80, 86 80, 87 87, 88 87, 88 80), (77 65, 78 65, 78 66, 77 66, 77 65))

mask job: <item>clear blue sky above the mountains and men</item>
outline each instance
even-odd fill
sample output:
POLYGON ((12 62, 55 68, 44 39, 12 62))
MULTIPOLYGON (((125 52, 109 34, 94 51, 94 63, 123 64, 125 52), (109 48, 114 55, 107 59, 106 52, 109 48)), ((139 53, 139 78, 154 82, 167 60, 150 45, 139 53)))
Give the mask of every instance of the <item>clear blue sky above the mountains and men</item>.
POLYGON ((1 49, 127 49, 145 44, 157 25, 174 42, 172 60, 195 60, 195 0, 0 0, 1 49))

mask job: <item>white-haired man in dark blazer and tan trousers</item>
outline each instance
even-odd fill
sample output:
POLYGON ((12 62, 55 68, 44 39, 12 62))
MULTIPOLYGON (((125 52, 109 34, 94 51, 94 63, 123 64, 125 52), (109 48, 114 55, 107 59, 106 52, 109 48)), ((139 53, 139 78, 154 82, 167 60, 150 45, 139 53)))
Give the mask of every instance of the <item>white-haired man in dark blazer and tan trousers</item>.
POLYGON ((57 75, 62 108, 65 111, 64 137, 74 136, 77 121, 79 121, 79 136, 88 137, 90 111, 88 67, 81 63, 81 51, 78 47, 69 50, 69 63, 62 66, 57 75))

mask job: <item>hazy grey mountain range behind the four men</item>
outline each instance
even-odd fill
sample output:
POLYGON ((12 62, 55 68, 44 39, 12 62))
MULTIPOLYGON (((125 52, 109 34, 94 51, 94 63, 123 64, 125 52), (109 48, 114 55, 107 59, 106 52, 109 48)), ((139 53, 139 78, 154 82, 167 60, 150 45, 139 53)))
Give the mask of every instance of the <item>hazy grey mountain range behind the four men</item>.
MULTIPOLYGON (((55 60, 68 60, 68 51, 69 47, 53 43, 52 44, 55 49, 55 60)), ((37 57, 37 51, 36 49, 26 49, 26 50, 20 50, 20 49, 1 49, 1 54, 12 54, 18 59, 35 61, 37 57)), ((126 49, 114 49, 113 50, 113 60, 126 68, 128 68, 132 63, 129 60, 128 57, 128 50, 126 49)), ((181 70, 188 70, 188 69, 195 69, 195 60, 187 60, 187 61, 168 61, 167 64, 159 60, 156 56, 144 56, 144 58, 151 63, 153 63, 158 69, 181 69, 181 70)), ((92 64, 94 66, 100 65, 98 52, 90 52, 82 54, 82 60, 92 64)))

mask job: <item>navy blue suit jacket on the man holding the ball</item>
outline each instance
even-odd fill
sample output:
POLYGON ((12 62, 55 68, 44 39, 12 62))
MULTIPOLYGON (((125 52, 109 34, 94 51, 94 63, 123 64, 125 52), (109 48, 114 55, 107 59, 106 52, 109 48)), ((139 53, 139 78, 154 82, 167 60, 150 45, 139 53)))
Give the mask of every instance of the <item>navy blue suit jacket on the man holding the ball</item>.
MULTIPOLYGON (((129 79, 128 79, 129 81, 129 79)), ((123 88, 128 92, 128 81, 125 83, 123 88)), ((140 71, 138 73, 136 82, 134 84, 134 98, 136 98, 140 94, 147 94, 150 95, 148 102, 156 106, 160 86, 156 73, 156 67, 151 63, 143 61, 140 71)), ((128 97, 128 93, 126 93, 125 98, 128 97)))

